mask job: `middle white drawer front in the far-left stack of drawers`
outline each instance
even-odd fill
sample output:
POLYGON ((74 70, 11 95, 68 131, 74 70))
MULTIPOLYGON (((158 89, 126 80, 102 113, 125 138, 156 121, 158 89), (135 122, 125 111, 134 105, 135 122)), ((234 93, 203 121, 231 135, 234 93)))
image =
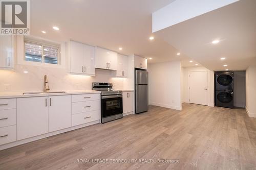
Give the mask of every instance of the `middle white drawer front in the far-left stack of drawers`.
POLYGON ((0 128, 16 125, 16 109, 0 110, 0 128))

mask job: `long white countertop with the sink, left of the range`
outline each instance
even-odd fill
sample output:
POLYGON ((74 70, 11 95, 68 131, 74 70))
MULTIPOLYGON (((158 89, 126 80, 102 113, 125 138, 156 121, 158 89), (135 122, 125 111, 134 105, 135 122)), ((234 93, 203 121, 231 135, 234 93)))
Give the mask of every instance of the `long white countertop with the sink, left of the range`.
MULTIPOLYGON (((56 90, 56 91, 65 91, 65 93, 39 93, 39 94, 23 94, 24 92, 6 92, 0 93, 0 99, 9 99, 9 98, 28 98, 28 97, 37 97, 37 96, 53 96, 53 95, 71 95, 71 94, 92 94, 92 93, 101 93, 96 90, 56 90)), ((36 91, 34 91, 36 92, 36 91)), ((51 92, 51 91, 50 91, 51 92)))

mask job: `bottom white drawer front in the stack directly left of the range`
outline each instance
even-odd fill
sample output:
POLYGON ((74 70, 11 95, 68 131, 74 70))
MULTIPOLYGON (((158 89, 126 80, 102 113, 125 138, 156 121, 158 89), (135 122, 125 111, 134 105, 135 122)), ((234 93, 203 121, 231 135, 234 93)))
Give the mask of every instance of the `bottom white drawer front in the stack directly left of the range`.
POLYGON ((72 126, 86 124, 100 119, 100 111, 95 110, 86 113, 78 113, 72 115, 72 126))

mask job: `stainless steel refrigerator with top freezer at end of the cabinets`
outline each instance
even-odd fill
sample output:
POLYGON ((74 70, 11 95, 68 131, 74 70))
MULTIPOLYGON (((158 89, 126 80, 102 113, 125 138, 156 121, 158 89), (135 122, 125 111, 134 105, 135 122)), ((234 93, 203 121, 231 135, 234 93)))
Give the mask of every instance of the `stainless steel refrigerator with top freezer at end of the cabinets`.
POLYGON ((135 70, 135 113, 148 110, 148 72, 135 70))

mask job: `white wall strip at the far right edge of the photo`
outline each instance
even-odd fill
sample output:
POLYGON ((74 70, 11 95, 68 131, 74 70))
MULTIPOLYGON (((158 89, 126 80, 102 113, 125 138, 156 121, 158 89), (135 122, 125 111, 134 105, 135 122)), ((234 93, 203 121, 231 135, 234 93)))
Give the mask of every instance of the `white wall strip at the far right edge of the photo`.
POLYGON ((256 66, 246 69, 246 111, 249 116, 256 117, 256 66))

